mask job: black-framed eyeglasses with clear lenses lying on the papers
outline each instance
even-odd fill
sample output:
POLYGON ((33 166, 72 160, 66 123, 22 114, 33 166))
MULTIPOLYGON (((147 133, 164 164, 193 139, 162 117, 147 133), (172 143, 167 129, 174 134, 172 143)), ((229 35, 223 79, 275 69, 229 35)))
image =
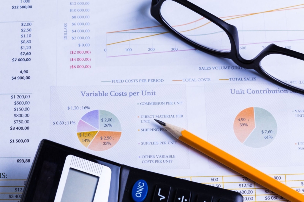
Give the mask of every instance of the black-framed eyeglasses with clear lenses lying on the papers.
POLYGON ((151 15, 196 49, 232 59, 280 86, 304 94, 304 54, 270 44, 254 59, 244 59, 239 53, 237 28, 187 0, 152 0, 151 15))

